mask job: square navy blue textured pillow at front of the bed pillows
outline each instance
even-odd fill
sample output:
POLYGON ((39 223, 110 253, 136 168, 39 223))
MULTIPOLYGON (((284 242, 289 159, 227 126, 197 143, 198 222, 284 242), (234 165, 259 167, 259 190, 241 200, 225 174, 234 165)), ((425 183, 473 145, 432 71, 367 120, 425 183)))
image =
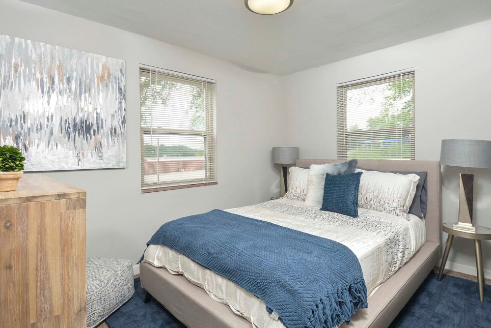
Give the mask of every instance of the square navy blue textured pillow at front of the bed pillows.
POLYGON ((358 217, 358 188, 362 172, 326 174, 321 210, 358 217))

